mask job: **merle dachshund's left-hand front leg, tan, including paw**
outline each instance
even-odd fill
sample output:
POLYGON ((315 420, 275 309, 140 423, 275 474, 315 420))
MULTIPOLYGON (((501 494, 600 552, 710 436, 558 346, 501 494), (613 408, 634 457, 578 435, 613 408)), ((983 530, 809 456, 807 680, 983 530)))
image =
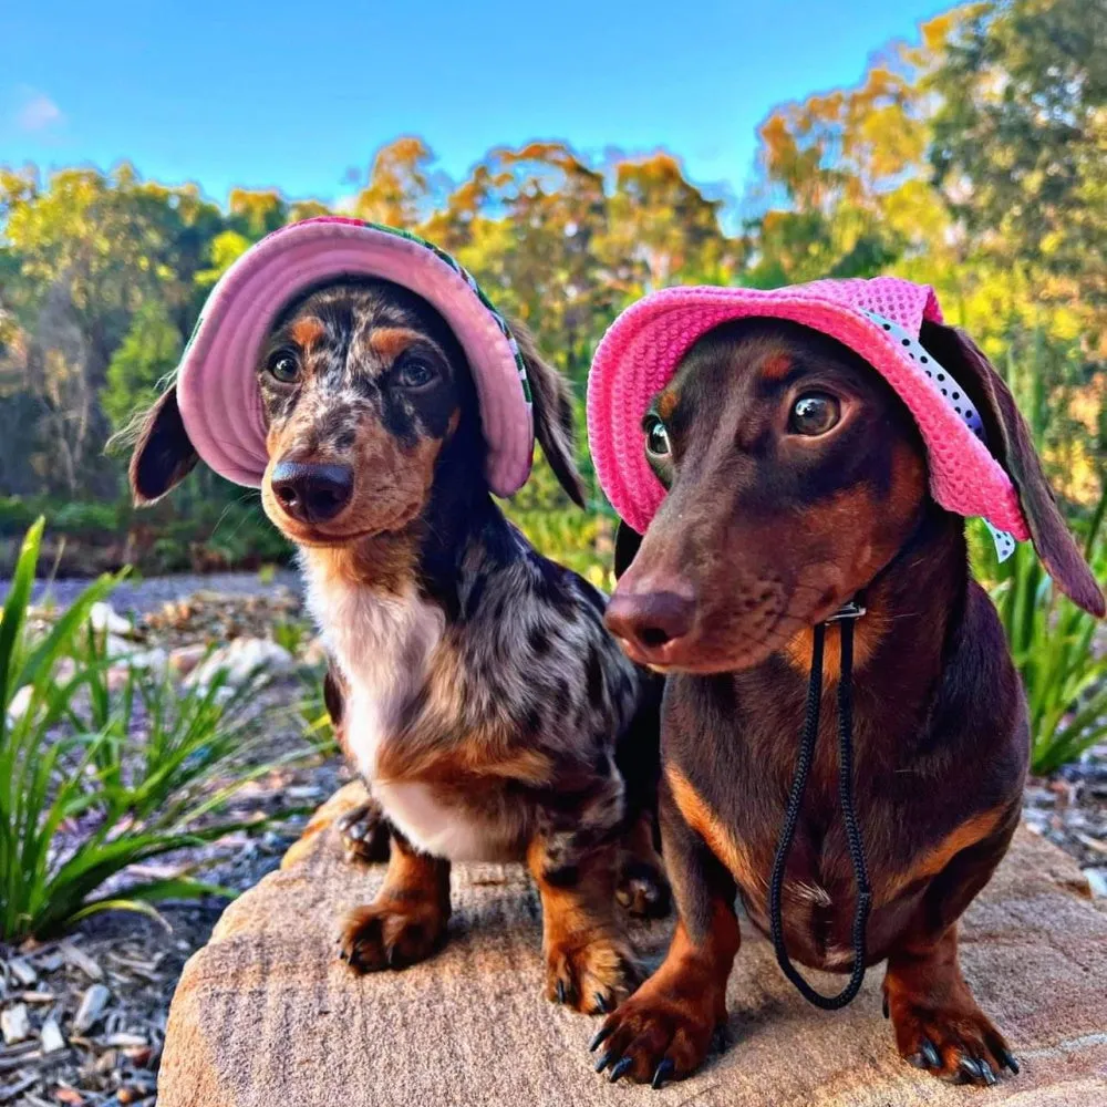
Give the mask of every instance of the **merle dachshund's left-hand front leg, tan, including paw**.
POLYGON ((376 899, 342 920, 339 955, 356 972, 404 969, 442 944, 449 920, 449 861, 420 853, 396 831, 376 899))

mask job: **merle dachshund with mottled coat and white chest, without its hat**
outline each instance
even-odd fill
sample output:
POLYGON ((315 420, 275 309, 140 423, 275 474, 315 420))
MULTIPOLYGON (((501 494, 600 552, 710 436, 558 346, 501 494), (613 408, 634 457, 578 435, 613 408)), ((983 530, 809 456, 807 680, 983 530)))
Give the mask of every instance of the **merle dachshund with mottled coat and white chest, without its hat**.
MULTIPOLYGON (((567 386, 517 337, 537 436, 582 503, 567 386)), ((257 373, 262 503, 299 547, 332 658, 328 706, 373 797, 348 839, 366 853, 374 827, 391 837, 384 886, 343 920, 341 955, 359 971, 430 955, 451 861, 525 860, 547 994, 610 1008, 635 974, 617 899, 668 902, 652 837, 660 683, 604 629, 604 597, 490 497, 464 352, 420 297, 379 280, 318 289, 275 322, 257 373)), ((170 390, 134 454, 136 497, 193 461, 170 390)))

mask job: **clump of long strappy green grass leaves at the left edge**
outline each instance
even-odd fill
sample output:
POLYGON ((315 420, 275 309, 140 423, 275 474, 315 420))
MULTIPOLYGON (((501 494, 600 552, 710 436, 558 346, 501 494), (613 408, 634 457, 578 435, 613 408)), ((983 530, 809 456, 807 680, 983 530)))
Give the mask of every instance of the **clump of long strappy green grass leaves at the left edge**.
POLYGON ((178 690, 136 659, 113 689, 118 660, 110 668, 89 611, 117 578, 101 577, 49 631, 30 633, 42 528, 39 520, 23 541, 0 617, 0 941, 8 942, 96 911, 156 914, 158 900, 224 892, 192 875, 149 880, 127 869, 242 829, 217 815, 272 767, 250 758, 265 741, 251 708, 259 679, 234 691, 219 680, 178 690))

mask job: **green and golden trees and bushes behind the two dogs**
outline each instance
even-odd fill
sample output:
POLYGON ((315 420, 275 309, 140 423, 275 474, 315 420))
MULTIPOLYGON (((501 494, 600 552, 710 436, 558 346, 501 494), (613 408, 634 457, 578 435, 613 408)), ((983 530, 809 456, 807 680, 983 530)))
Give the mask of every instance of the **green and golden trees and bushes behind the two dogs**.
MULTIPOLYGON (((1105 43, 1107 0, 954 8, 917 42, 875 54, 857 86, 772 111, 736 205, 664 152, 590 157, 532 142, 494 148, 452 180, 408 135, 376 153, 341 210, 453 252, 535 331, 580 396, 606 327, 654 288, 889 271, 929 282, 1006 373, 1103 567, 1105 43)), ((172 372, 220 273, 267 232, 325 211, 245 188, 219 206, 128 164, 49 176, 0 167, 0 572, 39 514, 50 519, 44 556, 63 572, 286 556, 256 498, 208 472, 135 515, 124 462, 103 447, 172 372)), ((544 467, 510 510, 542 549, 604 583, 612 519, 583 448, 581 465, 593 489, 587 515, 544 467)), ((1028 550, 1002 570, 982 556, 979 568, 1042 697, 1042 741, 1067 759, 1107 726, 1090 623, 1055 599, 1028 550), (1055 628, 1065 645, 1046 656, 1055 628)), ((1056 757, 1043 753, 1039 765, 1056 757)))

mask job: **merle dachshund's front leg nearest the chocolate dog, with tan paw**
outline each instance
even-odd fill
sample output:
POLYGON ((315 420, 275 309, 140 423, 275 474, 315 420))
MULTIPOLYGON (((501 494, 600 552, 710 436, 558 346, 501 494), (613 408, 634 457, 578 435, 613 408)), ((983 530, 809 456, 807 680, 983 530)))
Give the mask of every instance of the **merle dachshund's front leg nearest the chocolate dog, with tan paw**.
POLYGON ((615 918, 618 845, 587 834, 535 837, 527 865, 542 900, 546 997, 589 1013, 610 1011, 638 979, 615 918))

